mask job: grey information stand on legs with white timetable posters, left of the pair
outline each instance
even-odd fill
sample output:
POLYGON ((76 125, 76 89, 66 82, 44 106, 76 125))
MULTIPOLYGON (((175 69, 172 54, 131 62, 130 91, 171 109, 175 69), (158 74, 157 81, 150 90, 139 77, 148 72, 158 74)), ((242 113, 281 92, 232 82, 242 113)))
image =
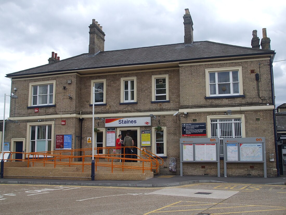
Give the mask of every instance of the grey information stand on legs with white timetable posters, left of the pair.
POLYGON ((217 162, 217 176, 221 177, 218 138, 180 138, 180 176, 184 162, 217 162))

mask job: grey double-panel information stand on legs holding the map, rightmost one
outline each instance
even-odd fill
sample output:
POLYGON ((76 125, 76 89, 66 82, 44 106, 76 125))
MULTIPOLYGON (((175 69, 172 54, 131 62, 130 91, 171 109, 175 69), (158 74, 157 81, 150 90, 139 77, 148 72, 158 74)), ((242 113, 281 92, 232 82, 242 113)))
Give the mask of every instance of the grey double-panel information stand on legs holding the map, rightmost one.
POLYGON ((227 163, 263 163, 264 177, 267 178, 265 137, 224 138, 224 175, 227 177, 227 163))

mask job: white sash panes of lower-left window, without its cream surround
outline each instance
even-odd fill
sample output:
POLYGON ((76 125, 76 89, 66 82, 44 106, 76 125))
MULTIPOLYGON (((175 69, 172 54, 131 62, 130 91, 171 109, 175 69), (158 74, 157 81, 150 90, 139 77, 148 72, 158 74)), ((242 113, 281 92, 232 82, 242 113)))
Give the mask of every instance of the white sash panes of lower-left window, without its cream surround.
POLYGON ((30 129, 30 149, 31 152, 51 151, 51 125, 34 125, 30 129))

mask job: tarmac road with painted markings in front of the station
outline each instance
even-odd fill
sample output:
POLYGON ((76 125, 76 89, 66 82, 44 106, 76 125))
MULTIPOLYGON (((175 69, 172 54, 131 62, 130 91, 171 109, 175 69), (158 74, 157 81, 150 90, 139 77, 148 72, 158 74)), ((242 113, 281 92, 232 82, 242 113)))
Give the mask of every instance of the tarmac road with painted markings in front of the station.
POLYGON ((1 215, 286 214, 286 186, 193 183, 173 187, 0 184, 1 215))

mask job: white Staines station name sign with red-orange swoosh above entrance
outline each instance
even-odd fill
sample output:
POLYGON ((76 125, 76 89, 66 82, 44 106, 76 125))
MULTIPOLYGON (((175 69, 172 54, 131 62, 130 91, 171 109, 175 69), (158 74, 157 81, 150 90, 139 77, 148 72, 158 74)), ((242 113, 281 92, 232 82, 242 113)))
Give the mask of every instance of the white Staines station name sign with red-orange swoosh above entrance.
POLYGON ((105 127, 150 126, 151 117, 109 118, 105 119, 105 127))

